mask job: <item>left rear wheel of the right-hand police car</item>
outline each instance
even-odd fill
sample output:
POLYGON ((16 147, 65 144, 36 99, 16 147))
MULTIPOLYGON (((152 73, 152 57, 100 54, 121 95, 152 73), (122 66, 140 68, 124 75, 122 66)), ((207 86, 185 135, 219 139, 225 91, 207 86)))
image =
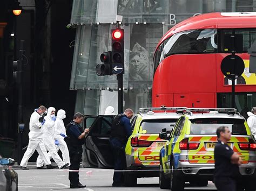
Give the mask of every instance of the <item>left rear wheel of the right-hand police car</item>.
POLYGON ((178 176, 178 171, 174 169, 173 161, 171 161, 170 186, 172 191, 184 190, 185 182, 182 176, 178 176))

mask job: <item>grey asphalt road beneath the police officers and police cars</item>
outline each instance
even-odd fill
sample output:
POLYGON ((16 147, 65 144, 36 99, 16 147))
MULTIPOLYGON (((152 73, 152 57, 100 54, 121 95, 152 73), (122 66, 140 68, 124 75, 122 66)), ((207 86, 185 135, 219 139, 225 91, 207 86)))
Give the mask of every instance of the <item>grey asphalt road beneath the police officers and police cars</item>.
MULTIPOLYGON (((69 169, 30 169, 29 171, 16 169, 18 189, 19 191, 69 190, 68 171, 69 169)), ((112 187, 113 170, 110 169, 81 168, 79 176, 80 182, 85 184, 86 188, 72 188, 72 190, 161 190, 158 178, 138 179, 136 187, 112 187)), ((187 184, 185 189, 213 190, 215 187, 209 181, 207 187, 190 187, 187 184)))

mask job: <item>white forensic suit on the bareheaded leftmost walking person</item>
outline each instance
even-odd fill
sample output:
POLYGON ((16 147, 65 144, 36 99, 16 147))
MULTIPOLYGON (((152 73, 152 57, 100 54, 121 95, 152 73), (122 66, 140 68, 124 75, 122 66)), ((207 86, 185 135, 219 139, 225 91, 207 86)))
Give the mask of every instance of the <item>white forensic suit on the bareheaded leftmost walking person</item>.
POLYGON ((28 148, 26 148, 26 152, 23 155, 20 166, 26 167, 28 165, 29 158, 32 156, 35 150, 38 152, 39 157, 45 161, 45 165, 51 164, 43 143, 43 128, 41 122, 39 122, 40 117, 41 115, 37 111, 34 111, 30 116, 29 145, 28 148))

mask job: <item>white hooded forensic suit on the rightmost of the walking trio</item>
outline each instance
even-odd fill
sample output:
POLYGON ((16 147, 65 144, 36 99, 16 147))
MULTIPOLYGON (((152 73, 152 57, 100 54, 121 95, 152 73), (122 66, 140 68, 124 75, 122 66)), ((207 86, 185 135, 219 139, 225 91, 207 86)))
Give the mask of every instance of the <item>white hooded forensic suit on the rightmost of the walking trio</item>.
POLYGON ((65 119, 65 118, 66 118, 66 112, 63 109, 58 110, 57 118, 54 125, 54 129, 55 129, 54 139, 58 140, 59 142, 59 145, 57 145, 56 148, 57 148, 57 151, 60 150, 62 152, 63 162, 65 164, 67 163, 70 164, 69 149, 64 140, 64 138, 66 137, 66 128, 62 119, 65 119))

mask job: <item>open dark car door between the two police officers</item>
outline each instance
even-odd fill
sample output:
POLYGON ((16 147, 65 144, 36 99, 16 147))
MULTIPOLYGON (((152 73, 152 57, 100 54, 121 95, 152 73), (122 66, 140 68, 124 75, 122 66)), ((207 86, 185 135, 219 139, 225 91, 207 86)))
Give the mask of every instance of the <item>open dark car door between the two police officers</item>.
POLYGON ((113 168, 110 131, 113 115, 85 116, 84 128, 90 128, 85 137, 83 167, 113 168))

